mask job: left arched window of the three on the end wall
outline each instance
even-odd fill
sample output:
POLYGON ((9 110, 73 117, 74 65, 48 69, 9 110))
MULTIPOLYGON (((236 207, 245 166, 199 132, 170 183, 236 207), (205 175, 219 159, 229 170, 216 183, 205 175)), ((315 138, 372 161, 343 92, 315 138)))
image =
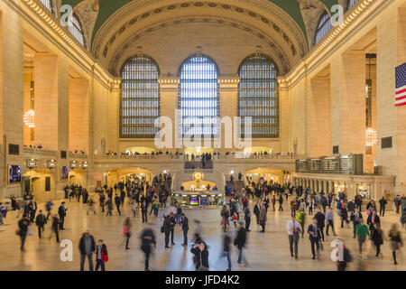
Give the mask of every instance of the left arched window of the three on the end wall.
POLYGON ((153 138, 159 128, 160 70, 155 61, 137 55, 125 62, 121 70, 120 137, 153 138))

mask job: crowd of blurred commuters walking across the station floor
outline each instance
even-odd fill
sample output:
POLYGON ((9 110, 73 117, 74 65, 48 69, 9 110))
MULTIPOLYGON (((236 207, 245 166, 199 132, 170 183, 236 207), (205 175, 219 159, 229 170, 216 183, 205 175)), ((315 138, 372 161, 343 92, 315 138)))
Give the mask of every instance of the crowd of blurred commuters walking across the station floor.
MULTIPOLYGON (((238 180, 242 180, 242 174, 238 174, 238 180)), ((234 181, 234 180, 232 180, 234 181)), ((295 187, 290 183, 280 184, 276 182, 245 182, 241 190, 235 189, 235 182, 229 182, 225 187, 226 200, 220 212, 219 224, 223 231, 223 250, 219 260, 226 257, 226 270, 232 269, 232 244, 237 251, 237 263, 250 266, 244 254, 249 232, 252 231, 252 223, 256 222, 260 228, 259 232, 264 233, 266 223, 270 218, 269 211, 276 212, 284 209, 291 210, 291 218, 287 221, 286 232, 289 241, 291 257, 299 259, 300 237, 309 236, 311 256, 313 259, 320 258, 320 250, 323 249, 323 242, 330 234, 337 236, 339 232, 335 229, 335 219, 341 220, 340 228, 351 228, 353 238, 356 239, 357 251, 360 257, 363 256, 363 248, 366 239, 370 239, 376 248, 375 256, 382 256, 381 247, 385 237, 389 238, 393 264, 398 264, 397 251, 402 246, 401 232, 397 224, 392 224, 387 235, 384 234, 381 219, 384 218, 388 200, 381 198, 378 201, 369 200, 363 206, 363 199, 355 195, 354 200, 348 200, 346 193, 339 192, 325 193, 323 191, 310 191, 309 188, 295 187), (271 206, 272 205, 272 206, 271 206), (277 205, 278 208, 277 208, 277 205), (379 207, 379 208, 378 208, 379 207), (337 213, 337 217, 336 217, 337 213), (253 214, 255 219, 252 220, 253 214), (309 220, 308 220, 309 219, 309 220), (350 226, 351 224, 351 226, 350 226)), ((140 218, 145 224, 140 232, 141 250, 144 254, 144 269, 150 270, 150 256, 157 244, 157 237, 148 223, 148 217, 155 216, 155 220, 163 218, 161 234, 164 239, 164 248, 174 246, 174 234, 176 226, 179 226, 183 247, 189 246, 189 238, 193 245, 190 248, 196 270, 209 270, 208 262, 209 246, 203 237, 203 227, 198 219, 194 219, 194 232, 189 236, 189 218, 182 210, 180 203, 171 200, 171 175, 160 174, 146 182, 144 179, 134 179, 127 182, 118 182, 115 185, 95 190, 96 195, 89 196, 86 188, 80 184, 71 185, 65 188, 65 197, 69 202, 81 201, 88 205, 87 214, 102 214, 106 217, 113 215, 115 206, 116 214, 122 215, 122 207, 128 204, 131 208, 131 217, 140 218), (97 201, 94 200, 98 197, 97 201), (127 201, 125 202, 125 198, 127 201), (167 208, 168 206, 168 208, 167 208), (98 207, 98 208, 97 208, 98 207), (161 211, 161 215, 159 212, 161 211)), ((14 198, 14 197, 13 197, 14 198)), ((12 199, 13 199, 12 198, 12 199)), ((15 199, 15 198, 14 198, 15 199)), ((403 215, 406 212, 406 198, 396 196, 394 200, 396 213, 400 215, 400 222, 403 224, 403 215)), ((38 230, 38 238, 43 238, 46 224, 51 223, 51 233, 55 236, 57 243, 60 242, 59 232, 65 229, 64 223, 67 218, 68 207, 66 201, 62 201, 56 213, 52 214, 52 201, 45 204, 46 213, 38 210, 38 204, 27 192, 23 196, 23 203, 12 202, 12 207, 18 210, 17 218, 23 215, 18 221, 16 235, 21 239, 21 250, 24 251, 26 237, 32 235, 31 225, 38 230), (21 208, 20 208, 21 207, 21 208), (37 212, 38 211, 38 212, 37 212)), ((5 216, 5 207, 0 203, 0 224, 3 223, 2 216, 5 216)), ((132 237, 132 218, 125 217, 122 234, 124 237, 125 250, 129 250, 130 238, 132 237)), ((52 235, 51 235, 52 236, 52 235)), ((50 237, 51 238, 51 237, 50 237)), ((337 261, 338 270, 346 270, 346 264, 351 262, 353 256, 342 240, 343 256, 337 261)), ((88 258, 89 270, 106 270, 108 261, 107 247, 102 238, 97 244, 95 238, 89 231, 83 233, 79 240, 80 269, 84 270, 86 258, 88 258), (96 257, 96 267, 93 266, 93 258, 96 257)))

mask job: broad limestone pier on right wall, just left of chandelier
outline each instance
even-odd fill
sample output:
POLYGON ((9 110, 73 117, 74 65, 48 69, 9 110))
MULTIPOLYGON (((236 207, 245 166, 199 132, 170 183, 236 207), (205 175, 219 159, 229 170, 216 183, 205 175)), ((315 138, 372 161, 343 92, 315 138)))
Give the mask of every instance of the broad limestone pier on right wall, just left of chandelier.
POLYGON ((330 66, 330 81, 331 146, 338 145, 339 154, 364 154, 364 51, 346 51, 333 59, 330 66))

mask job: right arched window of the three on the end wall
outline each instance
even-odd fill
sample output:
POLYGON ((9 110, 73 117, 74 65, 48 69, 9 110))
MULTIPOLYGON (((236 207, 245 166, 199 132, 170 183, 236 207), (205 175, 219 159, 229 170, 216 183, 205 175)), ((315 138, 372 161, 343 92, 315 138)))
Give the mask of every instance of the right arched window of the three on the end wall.
MULTIPOLYGON (((238 75, 238 117, 252 117, 253 137, 279 137, 279 71, 275 63, 257 53, 241 63, 238 75)), ((244 132, 244 126, 241 129, 244 132)))

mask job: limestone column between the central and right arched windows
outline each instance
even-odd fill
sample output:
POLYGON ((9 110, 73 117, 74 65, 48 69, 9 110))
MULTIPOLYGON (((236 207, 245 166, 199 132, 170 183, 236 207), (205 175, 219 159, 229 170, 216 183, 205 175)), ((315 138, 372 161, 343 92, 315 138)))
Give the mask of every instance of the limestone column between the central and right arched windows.
MULTIPOLYGON (((238 117, 238 85, 240 77, 238 76, 222 76, 217 79, 220 87, 220 118, 229 117, 231 119, 232 129, 230 132, 226 126, 221 125, 221 148, 220 152, 225 153, 231 149, 235 150, 234 144, 234 117, 238 117), (232 148, 226 147, 226 140, 232 138, 232 148)), ((228 146, 228 145, 227 145, 228 146)))

